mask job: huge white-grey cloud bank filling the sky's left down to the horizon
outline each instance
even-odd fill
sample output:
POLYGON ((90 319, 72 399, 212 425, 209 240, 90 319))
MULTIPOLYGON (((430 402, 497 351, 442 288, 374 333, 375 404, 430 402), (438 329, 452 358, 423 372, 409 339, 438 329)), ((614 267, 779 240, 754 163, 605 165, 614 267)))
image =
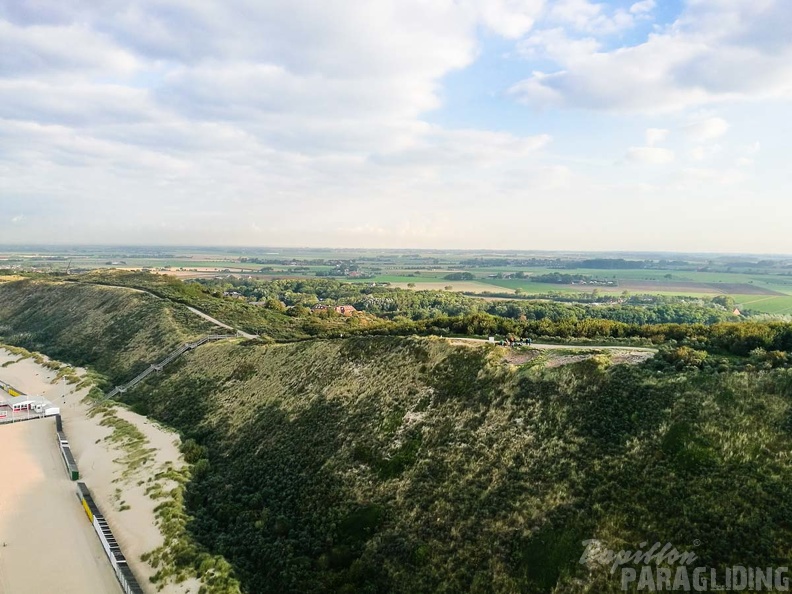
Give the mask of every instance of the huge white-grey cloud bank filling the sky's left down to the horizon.
POLYGON ((350 212, 382 241, 428 240, 410 221, 544 175, 546 134, 422 119, 482 29, 519 37, 542 8, 0 0, 2 210, 25 212, 6 240, 329 243, 350 212))

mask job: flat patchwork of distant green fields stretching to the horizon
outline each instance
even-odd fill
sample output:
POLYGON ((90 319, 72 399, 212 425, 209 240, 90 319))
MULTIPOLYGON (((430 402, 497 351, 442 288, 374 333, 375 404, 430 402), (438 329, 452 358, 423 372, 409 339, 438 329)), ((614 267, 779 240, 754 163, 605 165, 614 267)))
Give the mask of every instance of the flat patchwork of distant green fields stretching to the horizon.
MULTIPOLYGON (((612 262, 608 262, 611 264, 612 262)), ((667 295, 712 298, 729 295, 741 309, 772 314, 792 314, 792 259, 776 257, 684 255, 684 254, 570 254, 548 252, 476 252, 452 250, 372 250, 300 248, 211 247, 74 247, 0 249, 0 268, 44 272, 96 268, 150 268, 188 276, 252 274, 262 279, 315 278, 338 273, 334 278, 360 283, 391 283, 415 289, 468 293, 510 293, 524 296, 563 293, 620 295, 667 295), (673 257, 673 260, 669 258, 673 257), (590 268, 592 258, 627 260, 643 268, 609 266, 590 268), (242 261, 257 259, 257 262, 242 261), (586 262, 586 260, 589 260, 586 262), (340 267, 340 268, 339 268, 340 267), (201 269, 209 269, 210 272, 201 269), (227 270, 228 272, 223 272, 227 270), (340 270, 340 272, 339 272, 340 270), (350 271, 364 278, 350 276, 350 271), (468 272, 471 280, 445 277, 468 272), (503 278, 516 273, 527 278, 503 278), (536 282, 531 277, 547 274, 585 277, 585 284, 536 282), (500 276, 501 278, 497 278, 500 276), (595 281, 595 282, 591 282, 595 281), (606 285, 600 282, 612 281, 606 285)))

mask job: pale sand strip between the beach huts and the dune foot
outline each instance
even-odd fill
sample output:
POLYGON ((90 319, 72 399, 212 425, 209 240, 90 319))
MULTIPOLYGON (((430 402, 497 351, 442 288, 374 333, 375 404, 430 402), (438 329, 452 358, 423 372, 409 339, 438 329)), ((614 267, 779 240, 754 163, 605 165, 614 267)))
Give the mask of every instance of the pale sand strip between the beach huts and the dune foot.
MULTIPOLYGON (((27 394, 42 395, 55 406, 60 407, 63 429, 69 439, 72 454, 77 461, 81 480, 84 480, 91 490, 96 504, 107 519, 113 535, 121 545, 121 550, 143 589, 152 594, 154 592, 164 594, 196 593, 199 588, 197 581, 167 584, 161 590, 157 590, 157 587, 149 582, 149 577, 155 573, 155 570, 140 559, 143 553, 161 546, 164 540, 156 525, 154 513, 154 508, 161 501, 151 499, 145 490, 151 484, 148 482, 149 477, 161 471, 167 464, 173 465, 176 469, 184 466, 184 460, 178 448, 178 435, 151 422, 146 417, 122 407, 115 407, 116 416, 133 423, 146 436, 148 443, 145 447, 153 449, 153 459, 150 462, 124 476, 126 466, 121 461, 125 452, 117 445, 106 441, 112 429, 100 425, 101 415, 94 417, 88 415, 88 405, 82 402, 88 390, 75 391, 74 386, 66 385, 63 381, 53 384, 55 372, 42 367, 33 359, 18 359, 19 356, 12 355, 0 348, 0 366, 6 361, 16 361, 8 367, 0 367, 0 378, 27 394), (129 506, 129 509, 122 511, 122 505, 129 506)), ((82 370, 78 370, 78 373, 82 373, 82 370)), ((49 419, 28 421, 15 425, 15 428, 38 423, 49 427, 52 422, 49 419)), ((4 434, 7 429, 7 426, 0 426, 0 444, 4 442, 4 434)), ((55 452, 58 453, 53 432, 54 428, 49 427, 46 442, 48 447, 52 445, 55 452)), ((5 447, 3 447, 4 449, 5 447)), ((60 454, 58 453, 58 455, 60 454)), ((59 463, 60 474, 66 480, 63 464, 59 463)), ((172 482, 161 482, 166 490, 174 486, 172 482)), ((73 484, 72 488, 74 488, 73 484)), ((77 512, 82 513, 76 496, 70 494, 70 497, 69 505, 74 507, 77 512)), ((4 497, 0 498, 0 502, 4 499, 4 497)), ((8 510, 0 508, 0 525, 7 515, 8 510)), ((87 518, 85 523, 88 525, 87 518)), ((90 528, 90 526, 88 527, 90 528)), ((95 536, 93 538, 96 540, 97 546, 101 546, 98 538, 95 536)), ((49 553, 49 548, 47 547, 47 550, 43 552, 45 558, 49 553)), ((103 563, 110 571, 109 561, 103 559, 103 563)), ((39 589, 35 591, 63 590, 39 589)), ((107 592, 113 591, 107 590, 107 592)), ((11 592, 17 594, 17 590, 11 592)), ((104 592, 104 590, 88 588, 82 592, 104 592)), ((6 594, 6 592, 0 589, 0 594, 6 594)))

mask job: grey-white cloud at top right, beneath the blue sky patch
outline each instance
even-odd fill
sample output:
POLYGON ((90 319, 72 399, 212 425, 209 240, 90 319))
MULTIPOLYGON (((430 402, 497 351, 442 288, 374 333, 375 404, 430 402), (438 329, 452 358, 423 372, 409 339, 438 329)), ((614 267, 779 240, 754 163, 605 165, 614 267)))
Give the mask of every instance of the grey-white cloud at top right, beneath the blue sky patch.
MULTIPOLYGON (((596 18, 583 0, 577 27, 596 18)), ((572 2, 563 6, 571 6, 572 2)), ((792 97, 792 3, 691 0, 646 42, 534 73, 512 92, 531 105, 658 112, 714 102, 792 97), (786 25, 785 25, 786 24, 786 25)))

